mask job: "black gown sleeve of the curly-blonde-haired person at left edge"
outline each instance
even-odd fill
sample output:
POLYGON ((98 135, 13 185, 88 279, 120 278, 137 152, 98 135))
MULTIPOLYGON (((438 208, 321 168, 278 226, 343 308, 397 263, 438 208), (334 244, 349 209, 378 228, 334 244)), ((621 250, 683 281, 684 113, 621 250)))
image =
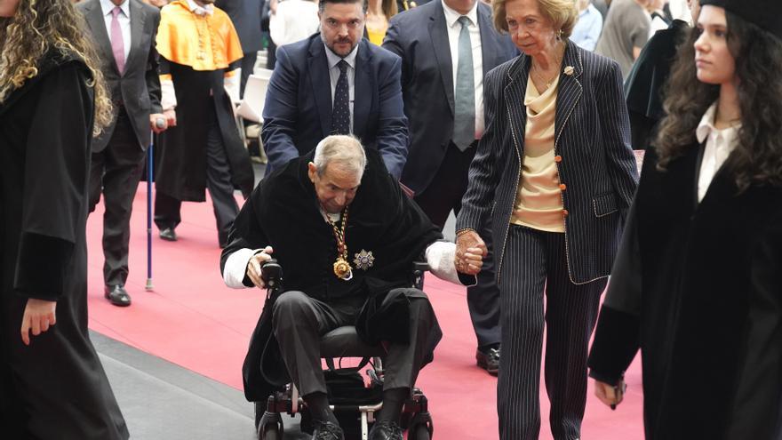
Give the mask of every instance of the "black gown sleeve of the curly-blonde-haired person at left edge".
POLYGON ((84 65, 70 62, 41 79, 26 145, 24 194, 14 292, 57 300, 84 236, 92 138, 92 88, 84 65), (81 230, 80 230, 81 229, 81 230))

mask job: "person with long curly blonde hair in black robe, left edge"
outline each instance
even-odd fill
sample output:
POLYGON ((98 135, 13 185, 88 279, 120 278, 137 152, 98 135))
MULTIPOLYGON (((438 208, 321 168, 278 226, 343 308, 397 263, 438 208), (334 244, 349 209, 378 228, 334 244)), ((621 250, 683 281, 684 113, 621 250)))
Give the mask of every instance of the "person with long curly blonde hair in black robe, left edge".
POLYGON ((129 437, 87 331, 91 143, 111 123, 112 106, 85 26, 68 0, 0 0, 0 429, 7 439, 129 437))

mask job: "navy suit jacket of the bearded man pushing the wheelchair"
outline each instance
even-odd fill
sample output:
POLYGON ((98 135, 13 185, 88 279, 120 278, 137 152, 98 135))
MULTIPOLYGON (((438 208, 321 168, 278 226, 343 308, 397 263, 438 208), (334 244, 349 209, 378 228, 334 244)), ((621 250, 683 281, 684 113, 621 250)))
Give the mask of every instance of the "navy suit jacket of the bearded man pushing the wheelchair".
MULTIPOLYGON (((366 39, 358 44, 353 133, 365 148, 379 150, 396 178, 402 174, 408 144, 401 64, 395 54, 366 39)), ((282 167, 331 134, 331 107, 329 66, 320 34, 277 49, 260 132, 268 166, 282 167)))

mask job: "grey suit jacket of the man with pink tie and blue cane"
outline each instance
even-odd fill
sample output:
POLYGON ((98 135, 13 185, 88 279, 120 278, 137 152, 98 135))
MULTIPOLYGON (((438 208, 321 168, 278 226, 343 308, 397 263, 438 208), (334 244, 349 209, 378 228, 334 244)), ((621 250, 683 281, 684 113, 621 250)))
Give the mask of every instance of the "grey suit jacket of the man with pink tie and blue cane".
MULTIPOLYGON (((131 119, 133 131, 139 140, 139 146, 147 149, 149 145, 149 114, 161 113, 160 78, 157 72, 158 55, 155 49, 157 25, 160 23, 160 11, 139 0, 129 0, 131 12, 131 52, 125 60, 124 73, 120 75, 116 68, 111 41, 108 39, 103 10, 99 0, 86 0, 76 4, 84 14, 84 19, 92 33, 95 46, 101 60, 101 70, 106 79, 111 99, 115 105, 123 103, 131 119)), ((113 121, 97 139, 92 141, 92 151, 103 151, 114 132, 113 121)))

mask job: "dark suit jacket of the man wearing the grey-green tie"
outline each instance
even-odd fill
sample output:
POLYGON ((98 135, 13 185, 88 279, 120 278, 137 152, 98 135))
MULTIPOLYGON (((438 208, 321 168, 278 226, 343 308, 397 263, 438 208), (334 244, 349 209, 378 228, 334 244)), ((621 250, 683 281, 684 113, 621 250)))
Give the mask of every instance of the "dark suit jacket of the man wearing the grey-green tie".
MULTIPOLYGON (((478 3, 483 76, 518 51, 491 24, 491 8, 478 3)), ((442 2, 396 15, 383 47, 402 57, 404 114, 410 120, 410 152, 402 181, 423 192, 443 162, 453 135, 453 68, 442 2)))

